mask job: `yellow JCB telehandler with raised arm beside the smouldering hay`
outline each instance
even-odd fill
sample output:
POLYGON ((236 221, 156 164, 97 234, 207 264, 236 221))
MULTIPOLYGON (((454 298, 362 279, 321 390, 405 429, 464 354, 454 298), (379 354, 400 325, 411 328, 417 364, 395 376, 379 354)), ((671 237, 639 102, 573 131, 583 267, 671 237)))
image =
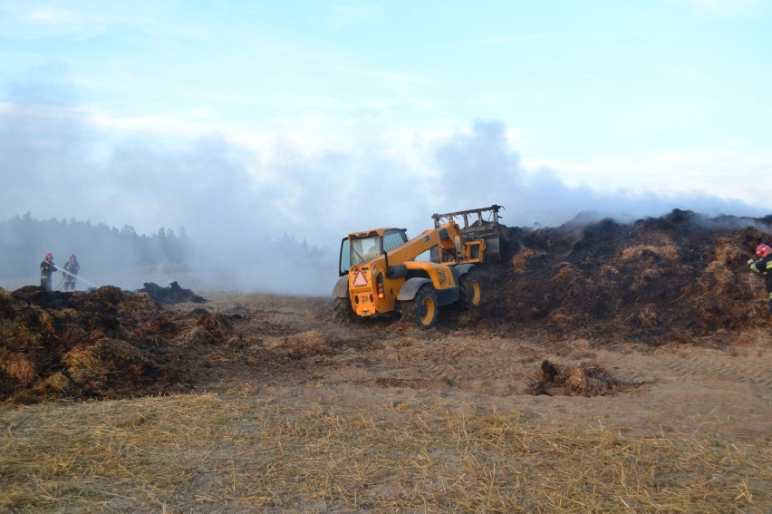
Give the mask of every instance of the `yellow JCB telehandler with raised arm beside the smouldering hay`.
POLYGON ((452 218, 412 239, 404 228, 353 232, 341 242, 336 314, 348 321, 399 314, 431 328, 442 305, 480 304, 475 268, 491 257, 486 249, 487 238, 469 238, 452 218), (429 260, 415 260, 427 252, 429 260))

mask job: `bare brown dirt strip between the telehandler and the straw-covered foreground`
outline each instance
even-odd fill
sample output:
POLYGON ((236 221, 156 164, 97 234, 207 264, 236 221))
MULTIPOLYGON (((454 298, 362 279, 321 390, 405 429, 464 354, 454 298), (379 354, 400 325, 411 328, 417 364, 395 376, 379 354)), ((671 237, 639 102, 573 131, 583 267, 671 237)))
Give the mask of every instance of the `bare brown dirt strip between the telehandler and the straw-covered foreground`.
MULTIPOLYGON (((259 392, 272 401, 381 409, 400 402, 459 412, 518 412, 547 422, 613 427, 628 435, 707 432, 772 442, 772 346, 723 334, 721 349, 691 344, 603 344, 523 336, 444 313, 435 330, 400 321, 343 324, 327 298, 207 293, 238 344, 198 354, 193 386, 259 392), (600 366, 616 387, 602 395, 535 394, 545 361, 600 366)), ((178 304, 185 312, 192 305, 178 304)), ((465 317, 467 316, 467 317, 465 317)))

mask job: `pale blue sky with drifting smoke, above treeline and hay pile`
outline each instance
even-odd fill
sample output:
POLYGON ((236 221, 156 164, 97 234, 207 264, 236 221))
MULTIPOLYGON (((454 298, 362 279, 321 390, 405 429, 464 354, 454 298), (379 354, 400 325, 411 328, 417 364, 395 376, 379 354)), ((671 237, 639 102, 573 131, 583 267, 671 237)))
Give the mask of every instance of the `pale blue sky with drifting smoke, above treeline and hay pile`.
POLYGON ((0 218, 336 246, 493 203, 762 216, 770 26, 760 0, 0 0, 0 218))

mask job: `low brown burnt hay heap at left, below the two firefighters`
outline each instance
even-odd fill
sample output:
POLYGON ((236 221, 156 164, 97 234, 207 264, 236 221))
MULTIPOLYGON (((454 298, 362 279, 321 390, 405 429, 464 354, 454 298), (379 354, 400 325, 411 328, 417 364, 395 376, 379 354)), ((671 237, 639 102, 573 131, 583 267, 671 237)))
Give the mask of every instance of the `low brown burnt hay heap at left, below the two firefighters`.
POLYGON ((0 401, 186 390, 190 346, 227 342, 218 313, 161 311, 148 294, 0 289, 0 401))

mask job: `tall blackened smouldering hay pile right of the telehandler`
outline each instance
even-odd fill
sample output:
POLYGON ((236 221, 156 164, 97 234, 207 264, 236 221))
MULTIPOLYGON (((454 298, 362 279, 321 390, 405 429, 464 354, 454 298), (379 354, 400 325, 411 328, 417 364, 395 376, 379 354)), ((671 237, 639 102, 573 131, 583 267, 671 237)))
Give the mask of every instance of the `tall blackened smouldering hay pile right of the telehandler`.
POLYGON ((765 326, 763 282, 747 260, 766 218, 673 210, 622 224, 505 228, 512 256, 488 269, 481 315, 514 329, 662 344, 765 326))

